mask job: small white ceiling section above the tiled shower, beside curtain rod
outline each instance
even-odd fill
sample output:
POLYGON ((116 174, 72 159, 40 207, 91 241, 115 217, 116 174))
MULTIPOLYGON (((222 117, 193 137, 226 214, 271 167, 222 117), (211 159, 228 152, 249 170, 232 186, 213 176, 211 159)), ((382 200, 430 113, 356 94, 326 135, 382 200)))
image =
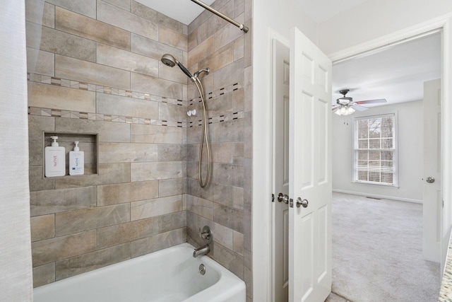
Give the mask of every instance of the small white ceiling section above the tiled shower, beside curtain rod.
MULTIPOLYGON (((204 8, 198 6, 191 0, 136 0, 155 11, 173 18, 179 22, 189 25, 191 21, 204 11, 204 8)), ((215 0, 202 0, 203 3, 210 6, 215 0)))

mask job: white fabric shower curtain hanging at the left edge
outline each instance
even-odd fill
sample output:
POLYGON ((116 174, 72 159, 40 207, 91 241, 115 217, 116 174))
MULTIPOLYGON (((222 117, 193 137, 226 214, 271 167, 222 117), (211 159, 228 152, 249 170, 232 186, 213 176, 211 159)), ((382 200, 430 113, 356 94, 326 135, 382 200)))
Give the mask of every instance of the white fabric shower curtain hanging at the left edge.
POLYGON ((0 301, 32 301, 23 1, 0 18, 0 301))

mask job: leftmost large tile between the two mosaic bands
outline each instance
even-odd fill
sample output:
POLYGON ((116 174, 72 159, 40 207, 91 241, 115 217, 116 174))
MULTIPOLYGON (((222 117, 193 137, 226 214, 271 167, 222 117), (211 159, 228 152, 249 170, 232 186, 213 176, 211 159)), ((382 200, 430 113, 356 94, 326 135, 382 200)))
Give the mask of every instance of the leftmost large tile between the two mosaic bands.
POLYGON ((29 81, 28 105, 59 110, 94 112, 95 93, 29 81))

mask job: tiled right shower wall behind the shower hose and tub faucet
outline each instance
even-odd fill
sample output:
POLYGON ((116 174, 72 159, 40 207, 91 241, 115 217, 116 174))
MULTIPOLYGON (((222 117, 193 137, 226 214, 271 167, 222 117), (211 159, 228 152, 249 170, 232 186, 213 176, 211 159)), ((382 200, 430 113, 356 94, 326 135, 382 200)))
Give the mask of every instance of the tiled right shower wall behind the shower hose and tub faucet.
MULTIPOLYGON (((251 28, 251 0, 217 0, 213 7, 251 28)), ((250 29, 251 30, 251 29, 250 29)), ((251 237, 251 33, 204 11, 189 25, 190 70, 210 68, 206 91, 212 165, 206 189, 198 185, 202 105, 196 86, 188 86, 187 240, 201 245, 199 228, 213 230, 214 260, 246 281, 252 300, 251 237)), ((206 158, 206 153, 204 153, 206 158)), ((204 160, 205 161, 205 160, 204 160)), ((203 164, 203 175, 206 171, 203 164)))

